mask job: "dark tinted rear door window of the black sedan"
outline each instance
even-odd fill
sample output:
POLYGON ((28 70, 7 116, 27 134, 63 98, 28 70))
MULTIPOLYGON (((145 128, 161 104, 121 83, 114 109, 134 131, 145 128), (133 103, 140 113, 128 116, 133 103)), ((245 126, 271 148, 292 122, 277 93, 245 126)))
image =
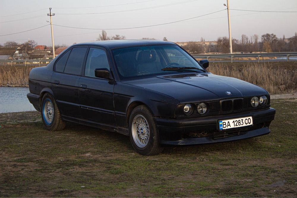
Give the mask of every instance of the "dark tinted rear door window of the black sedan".
POLYGON ((80 75, 87 47, 74 47, 65 66, 65 73, 80 75))

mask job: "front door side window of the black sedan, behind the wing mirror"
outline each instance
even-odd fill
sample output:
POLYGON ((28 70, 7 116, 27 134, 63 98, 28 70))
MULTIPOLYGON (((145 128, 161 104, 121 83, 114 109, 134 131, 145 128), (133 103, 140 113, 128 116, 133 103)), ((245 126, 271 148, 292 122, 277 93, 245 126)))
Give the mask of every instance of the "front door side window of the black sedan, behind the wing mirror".
POLYGON ((106 52, 98 48, 90 48, 86 62, 85 76, 95 77, 95 69, 109 68, 106 52))

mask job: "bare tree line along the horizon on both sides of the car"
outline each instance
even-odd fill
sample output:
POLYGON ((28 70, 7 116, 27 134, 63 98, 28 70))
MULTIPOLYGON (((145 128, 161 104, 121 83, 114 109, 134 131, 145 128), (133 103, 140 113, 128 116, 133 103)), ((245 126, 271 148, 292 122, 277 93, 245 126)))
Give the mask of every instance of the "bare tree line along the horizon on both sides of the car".
MULTIPOLYGON (((120 40, 126 39, 125 36, 116 34, 109 37, 105 30, 99 34, 97 41, 103 40, 120 40)), ((155 39, 149 37, 143 37, 142 39, 155 39)), ((167 38, 163 38, 167 41, 167 38)), ((28 40, 24 43, 17 43, 14 41, 7 41, 0 47, 15 47, 18 46, 22 51, 28 53, 34 50, 37 46, 37 42, 34 40, 28 40)), ((46 46, 45 46, 46 47, 46 46)), ((67 47, 67 45, 55 45, 55 49, 59 47, 67 47)), ((200 38, 200 42, 185 42, 182 47, 189 53, 229 53, 229 38, 228 37, 218 37, 215 44, 207 45, 203 37, 200 38)), ((48 47, 46 47, 48 48, 48 47)), ((50 47, 51 48, 51 47, 50 47)), ((248 37, 245 34, 241 35, 241 39, 232 38, 232 48, 233 52, 289 52, 297 51, 297 32, 295 32, 293 37, 285 38, 285 35, 281 38, 277 38, 275 34, 263 34, 261 36, 254 34, 248 37)))

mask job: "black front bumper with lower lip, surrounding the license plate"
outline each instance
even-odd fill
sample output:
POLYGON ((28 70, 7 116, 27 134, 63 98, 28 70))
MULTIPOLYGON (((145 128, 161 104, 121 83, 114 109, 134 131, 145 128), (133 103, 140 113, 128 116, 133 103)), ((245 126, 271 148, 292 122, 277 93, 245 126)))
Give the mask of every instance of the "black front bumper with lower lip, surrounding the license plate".
POLYGON ((241 140, 269 134, 268 126, 274 120, 275 109, 215 115, 200 118, 155 118, 161 144, 190 145, 241 140), (218 121, 240 117, 253 117, 253 125, 219 130, 218 121))

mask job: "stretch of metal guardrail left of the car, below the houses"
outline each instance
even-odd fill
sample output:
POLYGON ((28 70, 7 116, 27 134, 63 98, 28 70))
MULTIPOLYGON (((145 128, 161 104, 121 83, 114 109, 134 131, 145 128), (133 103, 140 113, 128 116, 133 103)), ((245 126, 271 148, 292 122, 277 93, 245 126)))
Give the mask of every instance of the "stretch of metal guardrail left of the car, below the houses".
POLYGON ((44 66, 47 65, 53 59, 31 59, 31 60, 1 60, 0 65, 11 66, 44 66))

